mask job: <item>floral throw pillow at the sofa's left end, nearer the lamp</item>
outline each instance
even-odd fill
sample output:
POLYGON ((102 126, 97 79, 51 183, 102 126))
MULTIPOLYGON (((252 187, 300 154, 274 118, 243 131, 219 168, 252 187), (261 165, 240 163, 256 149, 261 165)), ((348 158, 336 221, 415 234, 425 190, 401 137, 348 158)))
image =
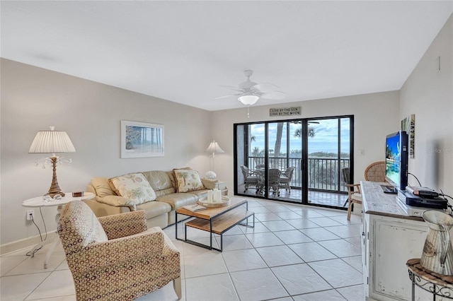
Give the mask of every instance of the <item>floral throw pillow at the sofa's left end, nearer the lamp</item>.
POLYGON ((156 192, 142 173, 122 175, 108 180, 117 195, 127 199, 127 206, 139 205, 156 199, 156 192))

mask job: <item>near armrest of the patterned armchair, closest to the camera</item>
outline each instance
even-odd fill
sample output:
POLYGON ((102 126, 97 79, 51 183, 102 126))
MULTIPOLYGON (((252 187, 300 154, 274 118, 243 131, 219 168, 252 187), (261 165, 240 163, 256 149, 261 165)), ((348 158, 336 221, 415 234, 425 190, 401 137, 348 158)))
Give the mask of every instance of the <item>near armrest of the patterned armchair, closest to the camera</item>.
POLYGON ((81 273, 135 259, 163 256, 163 249, 164 232, 155 227, 129 237, 89 244, 79 252, 67 254, 67 260, 71 271, 81 273))

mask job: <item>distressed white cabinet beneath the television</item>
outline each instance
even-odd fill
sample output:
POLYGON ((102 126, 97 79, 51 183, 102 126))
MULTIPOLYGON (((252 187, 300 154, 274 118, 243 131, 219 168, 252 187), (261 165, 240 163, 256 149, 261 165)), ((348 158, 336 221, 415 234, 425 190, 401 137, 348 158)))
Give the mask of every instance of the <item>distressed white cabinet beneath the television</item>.
POLYGON ((411 300, 406 262, 420 258, 428 226, 407 216, 396 196, 362 182, 362 261, 365 296, 372 300, 411 300))

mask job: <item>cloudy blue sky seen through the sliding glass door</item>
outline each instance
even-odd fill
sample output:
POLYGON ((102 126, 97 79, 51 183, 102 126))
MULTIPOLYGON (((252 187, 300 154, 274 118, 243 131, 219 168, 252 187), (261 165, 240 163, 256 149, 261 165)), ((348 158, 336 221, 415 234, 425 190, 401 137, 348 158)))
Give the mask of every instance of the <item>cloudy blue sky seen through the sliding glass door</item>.
MULTIPOLYGON (((338 152, 338 119, 319 119, 319 124, 309 124, 314 129, 314 137, 309 137, 309 153, 338 152)), ((289 150, 302 150, 302 141, 294 137, 294 131, 299 124, 289 126, 289 150)), ((341 123, 341 152, 349 153, 349 119, 342 119, 341 123)), ((251 149, 258 147, 264 149, 264 124, 252 124, 251 135, 255 136, 255 141, 251 142, 251 149)), ((283 127, 282 146, 280 153, 287 153, 286 150, 286 125, 283 127)), ((277 136, 277 123, 269 124, 270 149, 275 148, 275 138, 277 136)))

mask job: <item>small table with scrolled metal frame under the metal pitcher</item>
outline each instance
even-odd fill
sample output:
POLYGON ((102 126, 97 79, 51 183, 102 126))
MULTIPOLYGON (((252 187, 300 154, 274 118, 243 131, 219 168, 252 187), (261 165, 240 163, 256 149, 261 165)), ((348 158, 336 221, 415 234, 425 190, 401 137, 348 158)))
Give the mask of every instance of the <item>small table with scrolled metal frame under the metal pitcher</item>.
POLYGON ((423 268, 419 258, 409 259, 406 266, 412 281, 412 301, 415 301, 415 285, 432 293, 433 301, 436 296, 453 300, 453 276, 441 275, 423 268))

